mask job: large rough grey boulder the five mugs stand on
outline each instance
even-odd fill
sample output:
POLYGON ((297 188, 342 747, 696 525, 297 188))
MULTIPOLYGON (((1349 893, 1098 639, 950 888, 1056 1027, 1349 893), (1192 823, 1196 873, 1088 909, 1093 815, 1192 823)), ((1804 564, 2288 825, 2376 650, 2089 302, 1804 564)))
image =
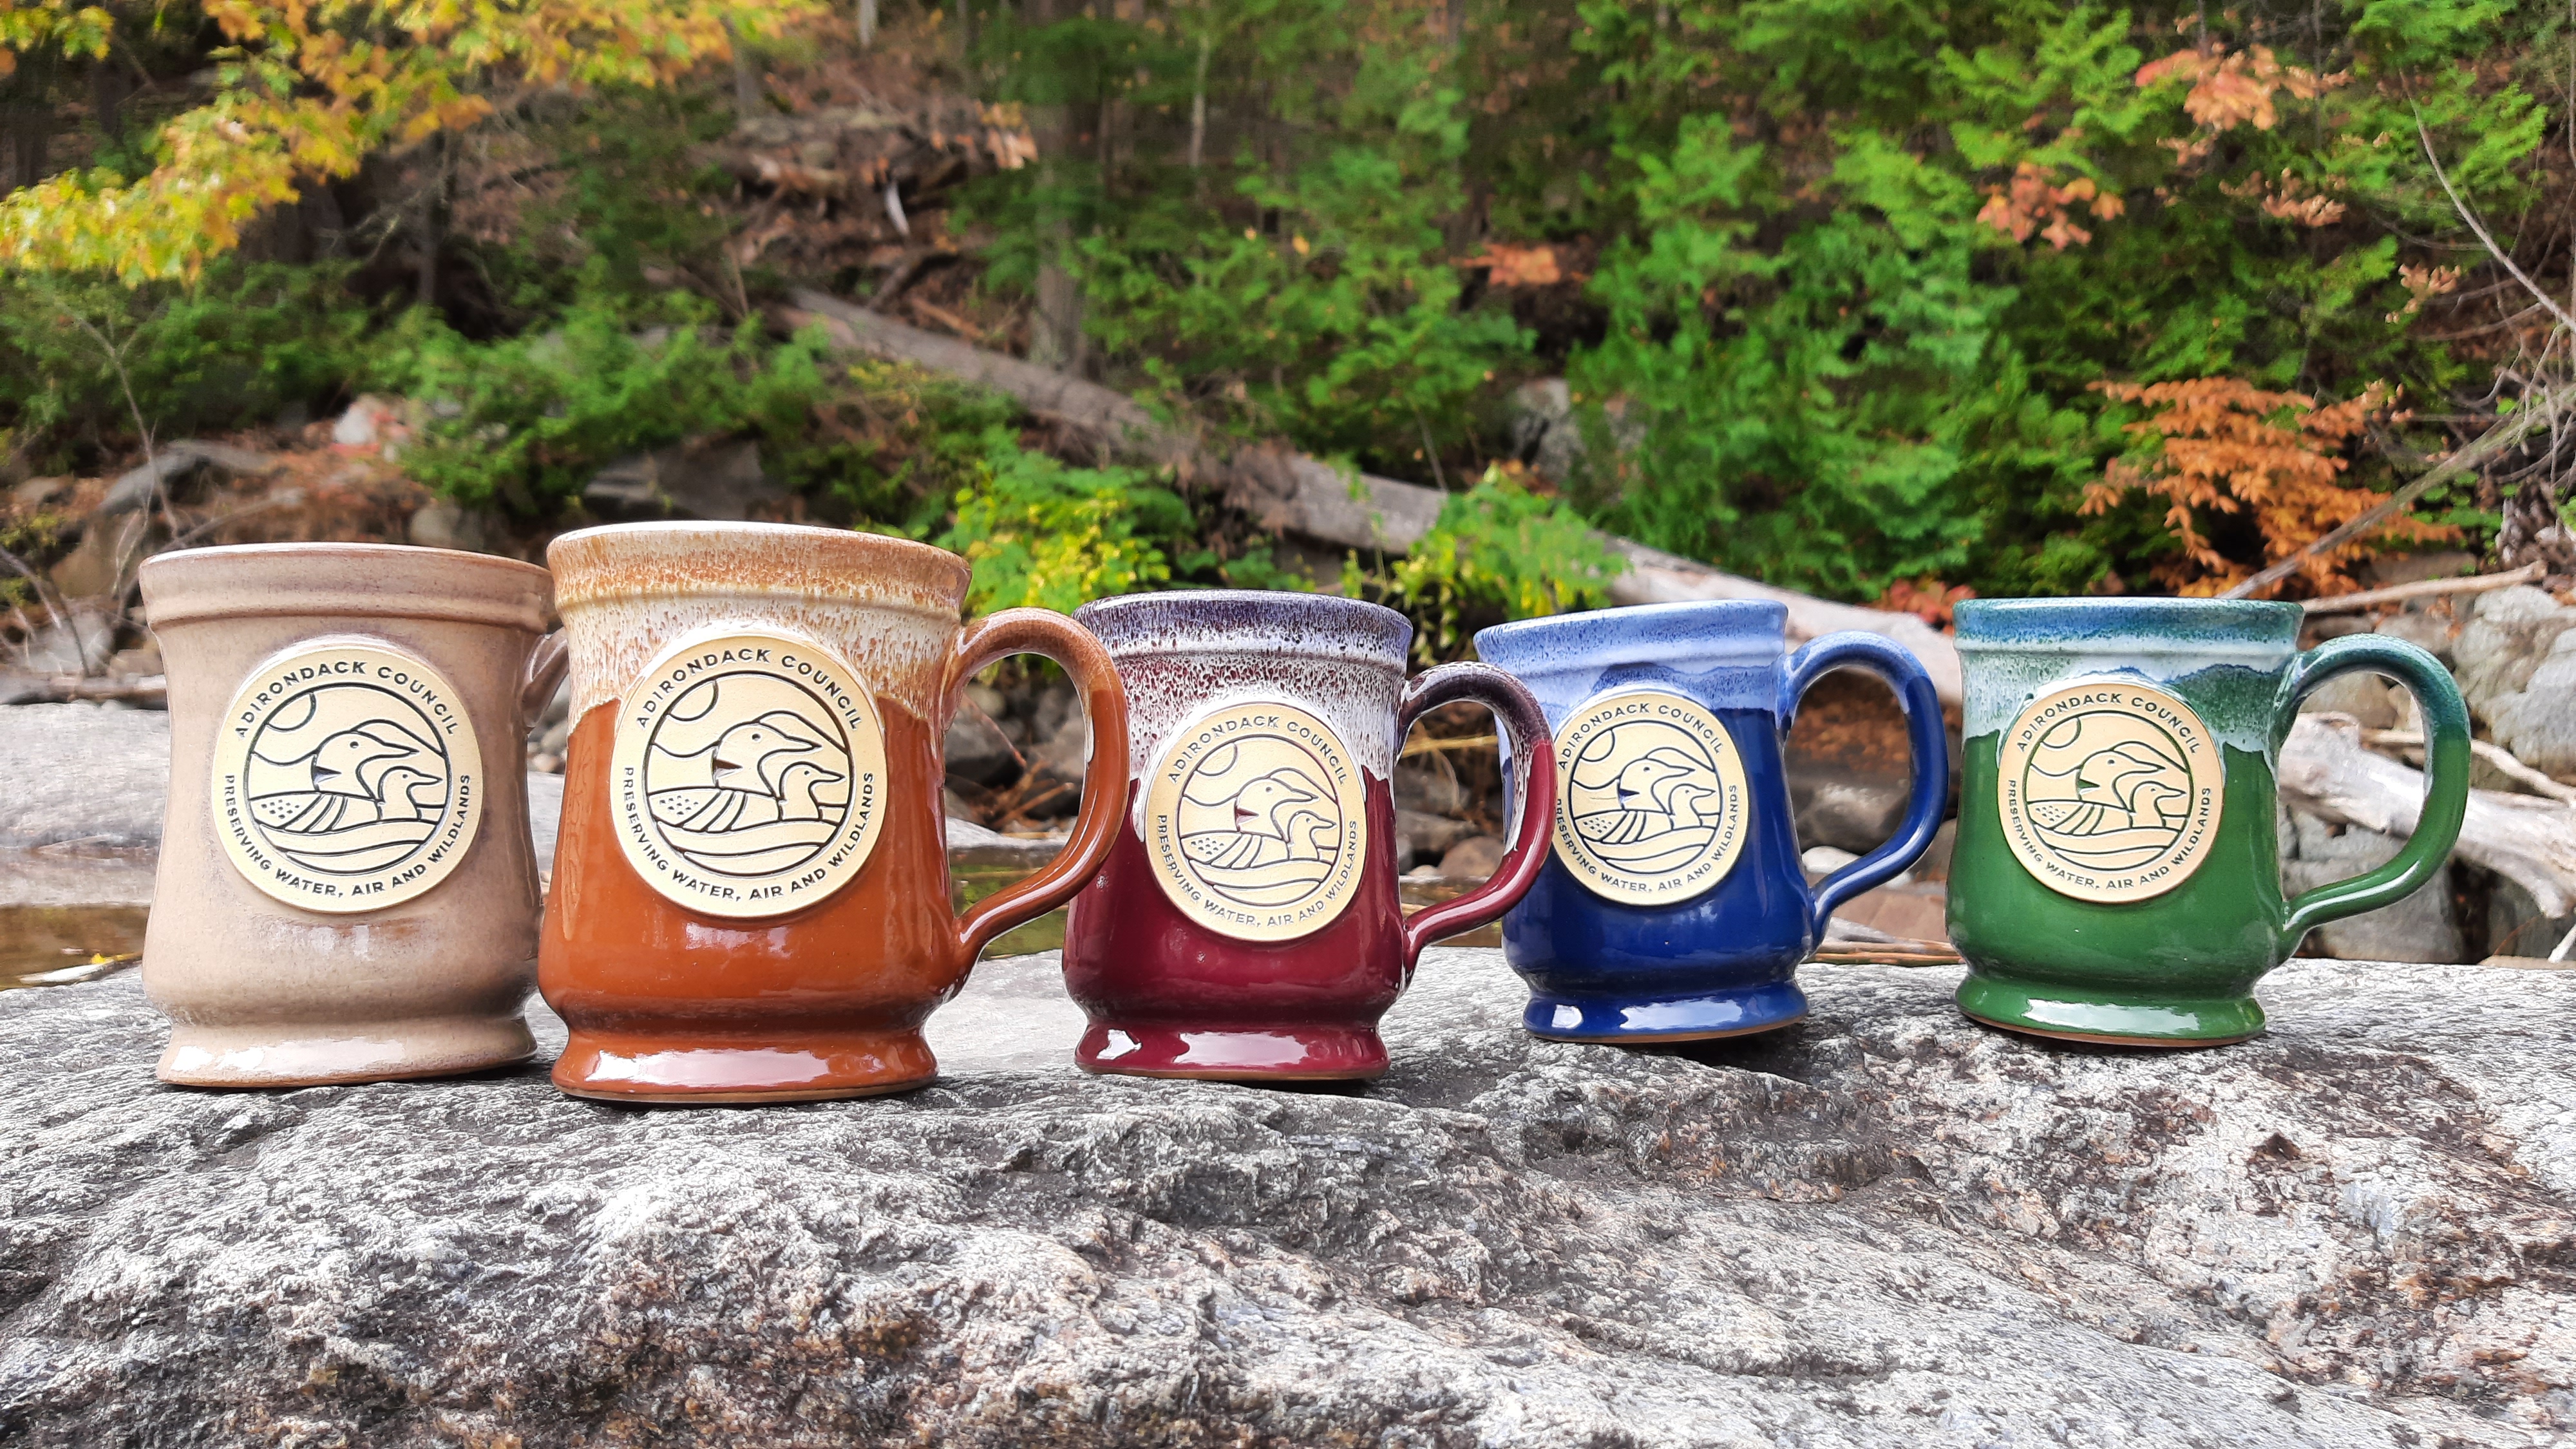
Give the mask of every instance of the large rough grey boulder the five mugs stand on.
POLYGON ((1388 1078, 1257 1091, 1082 1078, 1015 959, 933 1088, 703 1111, 541 1067, 167 1091, 131 977, 5 993, 0 1441, 2576 1428, 2576 975, 2298 962, 2202 1055, 1986 1034, 1947 969, 1806 980, 1795 1029, 1623 1052, 1432 951, 1388 1078))

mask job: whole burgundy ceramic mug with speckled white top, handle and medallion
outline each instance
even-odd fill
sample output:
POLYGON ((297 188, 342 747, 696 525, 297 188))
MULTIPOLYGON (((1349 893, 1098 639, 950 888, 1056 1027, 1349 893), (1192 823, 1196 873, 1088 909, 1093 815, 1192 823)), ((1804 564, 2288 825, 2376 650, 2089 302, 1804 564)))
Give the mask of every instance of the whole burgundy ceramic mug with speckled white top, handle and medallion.
POLYGON ((1386 1070, 1378 1018, 1422 946, 1502 915, 1546 851, 1538 704, 1486 665, 1406 683, 1401 614, 1314 593, 1149 593, 1084 603, 1128 688, 1133 799, 1074 897, 1064 985, 1092 1073, 1334 1080, 1386 1070), (1535 763, 1512 848, 1481 887, 1412 918, 1396 897, 1396 748, 1473 699, 1535 763))

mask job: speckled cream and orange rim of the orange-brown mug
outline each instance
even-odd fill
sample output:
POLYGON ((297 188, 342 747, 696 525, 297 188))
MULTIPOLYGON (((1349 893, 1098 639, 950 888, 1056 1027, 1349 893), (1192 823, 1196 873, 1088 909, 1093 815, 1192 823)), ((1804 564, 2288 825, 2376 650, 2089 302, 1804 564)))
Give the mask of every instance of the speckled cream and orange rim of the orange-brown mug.
MULTIPOLYGON (((667 557, 667 554, 647 554, 667 557)), ((634 603, 647 598, 796 598, 809 603, 850 603, 860 608, 889 608, 902 614, 925 614, 943 619, 956 627, 966 608, 966 588, 974 580, 974 565, 938 549, 930 544, 917 544, 912 539, 891 539, 886 534, 860 534, 855 529, 822 529, 817 523, 732 523, 732 521, 665 521, 665 523, 600 523, 595 529, 574 529, 572 534, 559 534, 546 544, 546 565, 554 570, 554 606, 556 611, 587 608, 595 603, 634 603), (768 580, 726 580, 726 572, 739 570, 739 554, 706 559, 703 572, 693 572, 675 583, 634 585, 634 583, 605 583, 600 575, 616 578, 626 567, 644 559, 621 557, 621 539, 634 539, 641 547, 706 539, 708 544, 739 544, 752 539, 775 539, 811 547, 817 557, 811 559, 760 559, 757 572, 770 575, 768 580), (845 552, 850 557, 832 559, 824 554, 845 552), (587 554, 587 557, 572 557, 587 554), (884 588, 886 572, 868 570, 871 554, 876 562, 909 557, 914 567, 938 565, 948 583, 933 583, 938 593, 948 598, 945 606, 914 603, 894 598, 902 585, 884 588), (811 572, 806 565, 837 565, 850 572, 811 572), (791 572, 806 572, 806 578, 788 583, 791 572)))

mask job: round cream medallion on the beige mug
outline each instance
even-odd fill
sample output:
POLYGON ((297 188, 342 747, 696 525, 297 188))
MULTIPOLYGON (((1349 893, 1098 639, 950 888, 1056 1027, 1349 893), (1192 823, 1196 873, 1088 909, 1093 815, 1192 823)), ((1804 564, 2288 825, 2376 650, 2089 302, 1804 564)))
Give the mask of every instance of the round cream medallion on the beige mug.
POLYGON ((214 833, 242 879, 304 910, 381 910, 464 861, 482 748, 435 668, 314 642, 252 673, 214 740, 214 833))

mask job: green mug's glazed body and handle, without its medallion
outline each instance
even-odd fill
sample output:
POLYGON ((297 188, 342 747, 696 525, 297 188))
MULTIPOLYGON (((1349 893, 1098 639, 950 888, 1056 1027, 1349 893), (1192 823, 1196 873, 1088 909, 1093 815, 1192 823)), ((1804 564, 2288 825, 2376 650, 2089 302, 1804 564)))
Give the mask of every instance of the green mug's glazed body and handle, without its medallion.
POLYGON ((2241 601, 2009 601, 1958 611, 1968 683, 1950 938, 1968 957, 1960 1011, 2017 1031, 2210 1047, 2262 1031, 2254 982, 2308 928, 2411 895, 2450 853, 2468 797, 2468 714, 2432 655, 2362 634, 2300 655, 2298 606, 2241 601), (2280 890, 2277 745, 2298 696, 2347 670, 2406 681, 2432 727, 2432 794, 2406 851, 2298 900, 2280 890), (2179 699, 2221 743, 2223 810, 2190 877, 2136 900, 2050 890, 2012 851, 1999 743, 2069 681, 2179 699))

